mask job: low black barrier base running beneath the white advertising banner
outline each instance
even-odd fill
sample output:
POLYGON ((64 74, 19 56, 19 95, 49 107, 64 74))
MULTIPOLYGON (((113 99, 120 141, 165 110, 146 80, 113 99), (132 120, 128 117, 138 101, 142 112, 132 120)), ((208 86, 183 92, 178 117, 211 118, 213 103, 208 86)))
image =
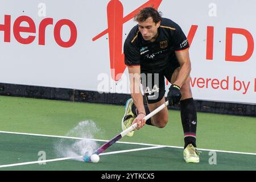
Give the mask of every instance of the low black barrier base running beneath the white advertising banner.
MULTIPOLYGON (((0 95, 115 105, 125 105, 127 99, 131 98, 130 94, 98 93, 96 91, 3 83, 0 83, 0 95)), ((213 102, 202 100, 195 100, 195 103, 197 111, 201 112, 256 117, 255 104, 213 102)), ((171 106, 168 107, 168 109, 179 110, 180 105, 171 106)))

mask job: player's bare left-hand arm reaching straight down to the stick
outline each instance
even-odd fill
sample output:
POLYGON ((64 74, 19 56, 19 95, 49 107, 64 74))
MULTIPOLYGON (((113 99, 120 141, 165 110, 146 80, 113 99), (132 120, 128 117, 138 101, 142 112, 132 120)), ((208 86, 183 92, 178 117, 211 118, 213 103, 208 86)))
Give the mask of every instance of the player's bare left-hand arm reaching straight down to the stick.
POLYGON ((138 110, 138 113, 146 114, 143 105, 143 96, 140 90, 141 85, 141 67, 128 67, 130 79, 130 91, 133 102, 138 110))

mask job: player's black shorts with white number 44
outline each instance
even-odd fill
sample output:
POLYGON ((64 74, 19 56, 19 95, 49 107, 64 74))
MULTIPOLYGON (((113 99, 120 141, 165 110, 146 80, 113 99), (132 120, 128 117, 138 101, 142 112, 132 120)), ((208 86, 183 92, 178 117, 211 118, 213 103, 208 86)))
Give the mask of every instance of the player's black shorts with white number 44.
POLYGON ((166 93, 164 77, 171 82, 172 74, 178 67, 180 67, 179 63, 168 64, 160 73, 141 72, 143 93, 146 96, 148 104, 153 104, 162 100, 166 93))

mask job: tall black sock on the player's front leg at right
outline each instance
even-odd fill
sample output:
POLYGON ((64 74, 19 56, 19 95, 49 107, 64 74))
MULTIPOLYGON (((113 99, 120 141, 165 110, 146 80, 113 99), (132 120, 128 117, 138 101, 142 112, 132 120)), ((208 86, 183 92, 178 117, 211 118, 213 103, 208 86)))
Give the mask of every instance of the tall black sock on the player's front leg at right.
POLYGON ((180 115, 184 131, 184 148, 190 143, 196 147, 197 116, 193 98, 180 101, 180 115))

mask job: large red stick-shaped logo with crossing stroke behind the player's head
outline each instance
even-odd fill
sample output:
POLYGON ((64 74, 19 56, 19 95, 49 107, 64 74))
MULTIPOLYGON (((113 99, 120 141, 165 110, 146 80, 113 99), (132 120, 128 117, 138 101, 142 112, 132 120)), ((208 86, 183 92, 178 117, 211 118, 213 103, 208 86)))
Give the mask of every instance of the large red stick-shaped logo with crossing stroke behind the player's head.
POLYGON ((122 37, 123 24, 134 17, 139 10, 144 7, 153 6, 156 9, 160 6, 162 0, 150 0, 131 12, 129 15, 123 17, 123 5, 118 0, 111 0, 108 3, 108 28, 95 36, 92 40, 95 41, 101 36, 109 34, 109 55, 111 77, 118 81, 122 73, 125 71, 125 55, 122 53, 122 37))

